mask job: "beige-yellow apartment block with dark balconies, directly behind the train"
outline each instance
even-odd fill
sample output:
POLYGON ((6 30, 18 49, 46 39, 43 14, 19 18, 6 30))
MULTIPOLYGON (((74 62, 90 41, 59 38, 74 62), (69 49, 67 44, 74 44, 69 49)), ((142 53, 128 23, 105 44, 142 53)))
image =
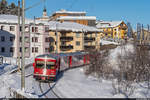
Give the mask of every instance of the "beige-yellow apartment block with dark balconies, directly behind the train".
POLYGON ((100 48, 97 28, 73 22, 50 21, 50 51, 68 53, 100 48))

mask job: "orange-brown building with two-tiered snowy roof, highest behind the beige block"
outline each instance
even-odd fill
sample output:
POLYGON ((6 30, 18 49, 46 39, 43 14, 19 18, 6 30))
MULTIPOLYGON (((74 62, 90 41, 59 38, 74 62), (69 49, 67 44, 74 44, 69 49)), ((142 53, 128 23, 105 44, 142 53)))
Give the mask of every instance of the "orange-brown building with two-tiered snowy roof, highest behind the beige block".
POLYGON ((56 11, 50 16, 50 21, 56 20, 60 22, 68 21, 83 25, 95 26, 96 17, 86 16, 86 12, 60 10, 56 11))

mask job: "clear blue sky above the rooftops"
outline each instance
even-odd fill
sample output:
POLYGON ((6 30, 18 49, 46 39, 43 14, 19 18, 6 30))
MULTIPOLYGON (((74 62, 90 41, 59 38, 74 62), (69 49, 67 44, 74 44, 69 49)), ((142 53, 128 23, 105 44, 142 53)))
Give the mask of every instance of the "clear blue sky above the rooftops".
MULTIPOLYGON (((18 0, 7 0, 8 3, 18 0)), ((25 0, 26 8, 41 0, 25 0)), ((46 0, 48 15, 66 9, 70 11, 86 11, 88 16, 96 16, 98 20, 129 21, 134 27, 140 22, 150 24, 150 0, 46 0)), ((44 3, 26 11, 27 18, 42 16, 44 3)))

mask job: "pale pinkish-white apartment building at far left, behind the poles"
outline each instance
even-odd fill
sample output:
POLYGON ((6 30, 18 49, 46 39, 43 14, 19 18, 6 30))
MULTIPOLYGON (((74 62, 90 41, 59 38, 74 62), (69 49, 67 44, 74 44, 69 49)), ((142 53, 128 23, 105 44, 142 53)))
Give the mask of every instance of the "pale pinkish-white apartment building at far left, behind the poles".
MULTIPOLYGON (((48 53, 48 25, 41 21, 25 19, 25 57, 34 57, 48 53)), ((21 26, 18 27, 18 17, 0 15, 0 55, 17 57, 22 51, 21 26)))

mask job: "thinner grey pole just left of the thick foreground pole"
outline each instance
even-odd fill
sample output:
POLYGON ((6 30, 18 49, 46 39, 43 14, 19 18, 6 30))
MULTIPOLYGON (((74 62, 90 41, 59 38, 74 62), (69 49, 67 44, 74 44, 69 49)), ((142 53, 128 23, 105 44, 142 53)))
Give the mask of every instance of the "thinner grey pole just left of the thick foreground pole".
POLYGON ((18 71, 20 71, 20 0, 18 0, 18 34, 17 34, 17 46, 18 46, 18 71))

